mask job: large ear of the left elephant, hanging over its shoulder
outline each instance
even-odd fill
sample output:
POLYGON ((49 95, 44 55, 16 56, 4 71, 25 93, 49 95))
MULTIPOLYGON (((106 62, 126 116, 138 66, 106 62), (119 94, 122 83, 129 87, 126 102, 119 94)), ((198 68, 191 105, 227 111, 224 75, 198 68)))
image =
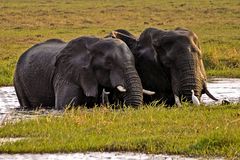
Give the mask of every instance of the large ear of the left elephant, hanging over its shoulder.
POLYGON ((70 41, 56 57, 56 72, 67 82, 83 89, 87 97, 97 97, 98 82, 91 67, 90 45, 98 38, 81 37, 70 41))

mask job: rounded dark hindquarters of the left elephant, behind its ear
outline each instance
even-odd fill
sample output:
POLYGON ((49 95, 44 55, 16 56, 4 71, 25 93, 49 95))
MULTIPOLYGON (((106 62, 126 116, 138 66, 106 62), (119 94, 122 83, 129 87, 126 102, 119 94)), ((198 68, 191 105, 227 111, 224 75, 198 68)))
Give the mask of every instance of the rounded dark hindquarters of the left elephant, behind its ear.
MULTIPOLYGON (((20 56, 14 74, 14 86, 18 97, 27 97, 28 107, 41 106, 40 101, 49 106, 54 104, 54 63, 65 45, 61 40, 51 39, 34 45, 20 56)), ((21 101, 20 105, 23 106, 21 101)))

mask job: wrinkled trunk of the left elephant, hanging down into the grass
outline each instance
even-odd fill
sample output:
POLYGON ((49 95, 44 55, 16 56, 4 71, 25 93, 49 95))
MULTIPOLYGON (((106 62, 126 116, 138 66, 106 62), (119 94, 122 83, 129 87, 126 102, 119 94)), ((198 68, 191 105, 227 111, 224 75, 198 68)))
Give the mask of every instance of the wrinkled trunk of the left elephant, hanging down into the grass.
POLYGON ((132 65, 125 68, 126 94, 124 101, 126 105, 139 106, 143 103, 143 88, 139 75, 132 65))

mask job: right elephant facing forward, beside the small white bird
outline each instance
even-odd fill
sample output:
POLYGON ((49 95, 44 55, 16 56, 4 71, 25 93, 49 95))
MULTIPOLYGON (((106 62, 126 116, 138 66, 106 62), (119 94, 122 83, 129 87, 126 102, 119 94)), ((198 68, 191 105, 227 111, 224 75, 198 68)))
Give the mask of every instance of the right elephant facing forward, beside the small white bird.
POLYGON ((118 29, 106 37, 123 40, 132 51, 143 88, 155 92, 144 95, 145 103, 157 100, 180 106, 183 100, 192 102, 191 90, 198 100, 204 93, 218 100, 207 89, 198 37, 191 30, 146 28, 137 38, 118 29))

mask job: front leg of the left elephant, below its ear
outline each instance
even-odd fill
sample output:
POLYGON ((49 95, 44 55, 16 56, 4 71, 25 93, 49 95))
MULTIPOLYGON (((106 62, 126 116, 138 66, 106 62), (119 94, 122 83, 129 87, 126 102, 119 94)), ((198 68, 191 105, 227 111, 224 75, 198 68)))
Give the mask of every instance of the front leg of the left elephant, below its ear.
POLYGON ((80 105, 82 92, 77 85, 63 84, 55 89, 55 109, 80 105))

